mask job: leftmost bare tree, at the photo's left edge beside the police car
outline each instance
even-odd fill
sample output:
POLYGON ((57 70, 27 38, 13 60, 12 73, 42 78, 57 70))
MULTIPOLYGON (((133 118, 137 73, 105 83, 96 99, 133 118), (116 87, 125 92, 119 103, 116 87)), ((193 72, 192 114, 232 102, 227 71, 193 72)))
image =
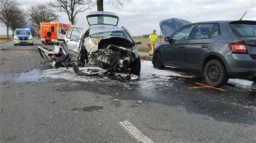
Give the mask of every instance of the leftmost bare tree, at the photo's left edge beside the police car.
POLYGON ((16 22, 13 16, 19 9, 19 3, 16 0, 0 0, 0 22, 6 26, 6 35, 9 40, 9 27, 11 23, 16 22))

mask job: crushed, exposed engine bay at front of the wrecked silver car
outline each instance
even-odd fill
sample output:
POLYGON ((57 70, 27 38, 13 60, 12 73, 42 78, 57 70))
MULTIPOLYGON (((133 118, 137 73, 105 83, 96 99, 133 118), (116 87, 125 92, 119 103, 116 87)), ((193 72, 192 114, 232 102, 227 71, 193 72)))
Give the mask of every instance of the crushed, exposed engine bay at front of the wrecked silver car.
POLYGON ((107 71, 127 71, 130 63, 136 58, 132 52, 133 45, 126 39, 119 37, 99 40, 90 38, 84 46, 88 53, 89 64, 97 65, 107 71))

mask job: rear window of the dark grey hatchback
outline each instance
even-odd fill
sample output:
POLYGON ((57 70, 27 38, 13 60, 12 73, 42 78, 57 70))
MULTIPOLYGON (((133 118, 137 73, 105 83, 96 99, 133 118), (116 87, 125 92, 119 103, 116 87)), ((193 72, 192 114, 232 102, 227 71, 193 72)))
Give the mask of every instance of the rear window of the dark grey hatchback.
POLYGON ((256 37, 256 23, 230 24, 237 37, 256 37))

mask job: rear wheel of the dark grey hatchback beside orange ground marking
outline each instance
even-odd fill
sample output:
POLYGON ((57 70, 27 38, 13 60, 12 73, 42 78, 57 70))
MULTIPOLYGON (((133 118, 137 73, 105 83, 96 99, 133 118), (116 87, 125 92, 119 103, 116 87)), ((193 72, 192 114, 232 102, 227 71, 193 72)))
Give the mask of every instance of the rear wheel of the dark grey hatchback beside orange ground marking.
POLYGON ((208 61, 204 67, 204 78, 207 84, 220 87, 228 81, 227 70, 219 60, 208 61))

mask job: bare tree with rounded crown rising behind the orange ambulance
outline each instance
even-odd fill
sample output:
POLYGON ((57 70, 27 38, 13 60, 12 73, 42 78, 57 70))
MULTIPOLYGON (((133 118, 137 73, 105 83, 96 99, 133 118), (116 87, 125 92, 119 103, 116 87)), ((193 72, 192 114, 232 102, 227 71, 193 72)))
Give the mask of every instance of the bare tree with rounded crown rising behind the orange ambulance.
POLYGON ((32 22, 32 26, 36 27, 38 37, 40 31, 40 23, 57 22, 59 16, 54 11, 48 8, 47 4, 31 5, 28 9, 29 20, 32 22))

